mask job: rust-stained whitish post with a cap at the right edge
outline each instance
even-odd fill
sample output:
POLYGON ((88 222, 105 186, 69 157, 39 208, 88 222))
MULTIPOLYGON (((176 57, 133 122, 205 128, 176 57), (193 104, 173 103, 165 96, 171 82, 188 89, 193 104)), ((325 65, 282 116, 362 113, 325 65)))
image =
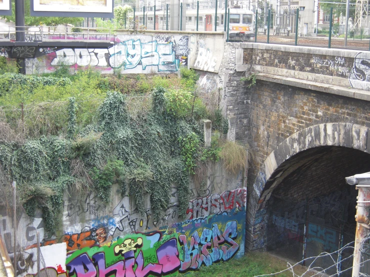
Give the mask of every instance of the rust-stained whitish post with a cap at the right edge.
POLYGON ((354 216, 357 223, 352 267, 352 277, 358 277, 360 275, 362 251, 366 251, 363 244, 366 243, 370 234, 370 172, 346 177, 345 180, 348 184, 356 185, 356 189, 358 189, 356 215, 354 216))

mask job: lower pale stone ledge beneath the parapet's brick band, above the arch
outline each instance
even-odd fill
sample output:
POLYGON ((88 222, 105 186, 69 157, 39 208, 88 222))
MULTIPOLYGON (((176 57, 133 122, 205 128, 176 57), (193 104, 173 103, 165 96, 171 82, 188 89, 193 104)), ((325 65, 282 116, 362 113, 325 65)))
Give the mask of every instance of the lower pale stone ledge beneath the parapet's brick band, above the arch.
POLYGON ((317 90, 335 95, 346 96, 350 98, 370 101, 370 92, 366 90, 360 90, 355 88, 345 88, 338 85, 332 85, 327 83, 300 80, 292 77, 284 77, 279 75, 272 75, 266 73, 256 73, 256 79, 281 83, 285 85, 291 85, 295 87, 317 90))

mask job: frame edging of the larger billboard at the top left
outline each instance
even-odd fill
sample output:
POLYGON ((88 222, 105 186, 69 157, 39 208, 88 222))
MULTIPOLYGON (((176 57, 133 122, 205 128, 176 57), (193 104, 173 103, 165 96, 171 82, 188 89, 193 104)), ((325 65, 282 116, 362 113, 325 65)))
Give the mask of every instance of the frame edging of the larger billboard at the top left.
MULTIPOLYGON (((31 0, 31 15, 32 16, 60 16, 60 17, 105 17, 113 18, 114 0, 107 0, 107 9, 110 11, 54 11, 54 10, 35 10, 35 2, 40 3, 40 0, 31 0), (112 7, 110 7, 112 3, 112 7)), ((46 5, 48 6, 48 5, 46 5)), ((47 8, 45 8, 47 9, 47 8)), ((59 7, 60 9, 60 7, 59 7)), ((96 6, 97 10, 101 10, 102 6, 96 6)))

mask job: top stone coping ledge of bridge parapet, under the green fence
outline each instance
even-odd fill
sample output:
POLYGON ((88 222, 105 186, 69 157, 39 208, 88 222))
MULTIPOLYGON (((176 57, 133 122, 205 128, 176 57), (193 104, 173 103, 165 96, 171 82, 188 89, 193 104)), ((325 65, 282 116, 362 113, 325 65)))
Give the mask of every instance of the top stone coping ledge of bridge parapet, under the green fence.
POLYGON ((352 49, 336 49, 336 48, 321 48, 312 46, 294 46, 294 45, 283 45, 283 44, 272 44, 272 43, 258 43, 249 42, 240 43, 242 48, 247 49, 264 49, 264 50, 275 50, 284 52, 295 52, 304 54, 316 54, 316 55, 328 55, 328 56, 342 56, 342 57, 355 57, 359 52, 368 53, 370 52, 363 50, 352 50, 352 49))

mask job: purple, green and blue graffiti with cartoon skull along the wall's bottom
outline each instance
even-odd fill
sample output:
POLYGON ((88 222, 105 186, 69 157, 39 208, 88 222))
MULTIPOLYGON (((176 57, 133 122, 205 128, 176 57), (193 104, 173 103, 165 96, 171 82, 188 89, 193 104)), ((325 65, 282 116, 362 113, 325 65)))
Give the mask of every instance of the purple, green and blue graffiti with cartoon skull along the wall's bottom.
POLYGON ((223 225, 222 215, 214 215, 202 229, 197 227, 196 220, 187 220, 179 222, 180 226, 191 226, 185 233, 163 236, 160 232, 134 233, 118 237, 110 245, 86 247, 67 257, 67 272, 76 277, 110 274, 143 277, 187 272, 227 261, 244 252, 238 242, 244 235, 238 222, 242 216, 223 225))

